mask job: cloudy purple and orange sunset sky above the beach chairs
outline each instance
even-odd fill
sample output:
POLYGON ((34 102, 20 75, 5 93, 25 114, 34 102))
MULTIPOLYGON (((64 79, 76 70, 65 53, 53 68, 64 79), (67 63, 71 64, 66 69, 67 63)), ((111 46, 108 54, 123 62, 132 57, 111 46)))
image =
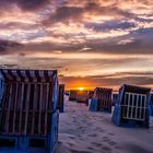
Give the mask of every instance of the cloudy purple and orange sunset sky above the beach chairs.
POLYGON ((57 69, 67 89, 153 87, 153 1, 0 0, 0 66, 57 69))

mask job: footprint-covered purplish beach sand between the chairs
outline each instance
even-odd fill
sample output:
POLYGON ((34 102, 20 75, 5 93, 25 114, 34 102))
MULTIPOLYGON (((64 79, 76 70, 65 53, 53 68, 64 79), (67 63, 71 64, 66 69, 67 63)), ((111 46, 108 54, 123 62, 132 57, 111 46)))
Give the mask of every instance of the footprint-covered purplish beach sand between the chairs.
POLYGON ((84 104, 64 98, 56 153, 153 153, 153 117, 150 129, 122 128, 111 114, 91 113, 84 104))

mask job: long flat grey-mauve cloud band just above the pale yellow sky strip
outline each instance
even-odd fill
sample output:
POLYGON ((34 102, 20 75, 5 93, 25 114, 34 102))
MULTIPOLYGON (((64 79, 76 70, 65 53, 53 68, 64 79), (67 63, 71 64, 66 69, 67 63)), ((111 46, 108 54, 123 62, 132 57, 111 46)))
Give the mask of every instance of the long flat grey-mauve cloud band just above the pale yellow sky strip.
MULTIPOLYGON (((32 33, 33 34, 33 33, 32 33)), ((37 37, 40 37, 39 35, 34 35, 37 37)), ((33 38, 34 36, 31 37, 33 38)), ((27 37, 27 36, 26 36, 27 37)), ((27 39, 27 40, 28 40, 27 39)), ((64 38, 63 38, 64 39, 64 38)), ((68 38, 67 38, 68 39, 68 38)), ((26 43, 24 47, 22 48, 21 51, 27 52, 31 51, 33 52, 46 52, 46 54, 51 54, 52 51, 56 50, 61 50, 63 54, 75 54, 79 51, 85 51, 86 54, 107 54, 109 56, 111 55, 153 55, 152 51, 153 44, 151 43, 151 39, 145 40, 142 39, 141 35, 138 35, 138 39, 136 38, 119 38, 117 39, 107 39, 106 42, 103 39, 91 39, 87 40, 86 43, 76 43, 76 44, 71 44, 71 43, 58 43, 55 40, 51 42, 37 42, 37 43, 26 43), (84 47, 87 46, 87 47, 84 47)))

